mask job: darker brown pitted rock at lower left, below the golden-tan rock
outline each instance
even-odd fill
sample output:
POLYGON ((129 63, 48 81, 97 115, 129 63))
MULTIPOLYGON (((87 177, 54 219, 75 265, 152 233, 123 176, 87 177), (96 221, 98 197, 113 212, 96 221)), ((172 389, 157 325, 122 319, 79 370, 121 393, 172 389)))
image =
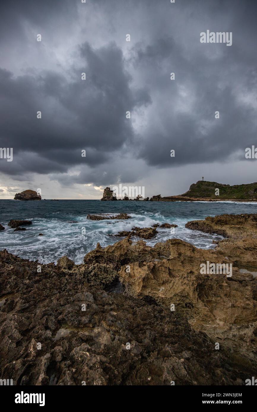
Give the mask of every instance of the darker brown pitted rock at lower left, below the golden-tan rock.
MULTIPOLYGON (((118 243, 117 257, 126 245, 129 253, 130 242, 118 243)), ((106 293, 75 267, 37 273, 37 262, 3 251, 0 290, 0 374, 14 384, 232 385, 254 376, 254 364, 225 346, 215 350, 183 312, 106 293)))

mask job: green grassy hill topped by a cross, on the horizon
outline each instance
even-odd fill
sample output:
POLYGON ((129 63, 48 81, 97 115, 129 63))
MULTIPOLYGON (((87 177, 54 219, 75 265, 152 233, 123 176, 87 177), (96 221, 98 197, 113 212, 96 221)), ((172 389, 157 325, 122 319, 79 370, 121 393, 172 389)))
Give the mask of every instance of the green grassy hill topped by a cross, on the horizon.
POLYGON ((257 199, 257 183, 249 183, 248 185, 223 185, 217 182, 205 182, 198 180, 193 183, 186 193, 181 196, 197 197, 208 199, 257 199), (219 189, 219 196, 215 196, 215 189, 219 189))

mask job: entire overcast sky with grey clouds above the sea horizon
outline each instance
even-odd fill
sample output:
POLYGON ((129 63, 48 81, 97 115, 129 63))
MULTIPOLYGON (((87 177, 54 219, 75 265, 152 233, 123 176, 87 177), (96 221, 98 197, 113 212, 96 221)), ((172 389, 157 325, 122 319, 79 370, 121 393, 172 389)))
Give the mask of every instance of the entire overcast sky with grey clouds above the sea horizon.
POLYGON ((256 16, 253 0, 2 0, 0 198, 257 181, 256 16), (232 45, 201 43, 207 30, 232 45))

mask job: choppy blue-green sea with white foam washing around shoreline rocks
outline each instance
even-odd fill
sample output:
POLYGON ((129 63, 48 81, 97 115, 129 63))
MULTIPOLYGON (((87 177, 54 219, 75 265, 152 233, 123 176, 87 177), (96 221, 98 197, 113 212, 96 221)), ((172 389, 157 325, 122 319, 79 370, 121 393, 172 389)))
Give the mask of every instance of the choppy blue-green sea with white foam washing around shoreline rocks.
MULTIPOLYGON (((222 236, 204 234, 185 228, 189 220, 204 219, 223 213, 257 213, 256 203, 236 202, 144 202, 144 201, 107 201, 100 200, 42 200, 14 201, 0 200, 0 223, 5 230, 0 231, 0 250, 29 260, 56 262, 67 255, 76 264, 94 249, 97 242, 108 246, 123 238, 109 236, 133 226, 150 227, 155 223, 175 223, 171 229, 157 229, 158 234, 146 241, 154 245, 160 241, 178 238, 198 248, 213 248, 212 240, 222 236), (87 220, 91 213, 128 213, 129 220, 87 220), (10 219, 32 220, 24 232, 14 232, 7 223, 10 219), (69 221, 76 220, 77 223, 69 221), (38 236, 43 233, 44 236, 38 236)), ((138 240, 132 238, 132 240, 138 240)))

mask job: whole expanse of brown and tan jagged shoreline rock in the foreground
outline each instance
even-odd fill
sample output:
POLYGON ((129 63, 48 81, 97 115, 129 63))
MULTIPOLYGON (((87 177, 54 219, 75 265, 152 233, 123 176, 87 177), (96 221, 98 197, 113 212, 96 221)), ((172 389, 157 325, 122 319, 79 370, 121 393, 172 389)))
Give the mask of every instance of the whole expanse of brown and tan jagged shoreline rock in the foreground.
POLYGON ((187 227, 226 239, 203 250, 179 239, 150 247, 125 238, 98 243, 81 265, 0 252, 0 378, 245 385, 257 367, 257 214, 187 227), (200 274, 206 261, 232 264, 232 276, 200 274))

